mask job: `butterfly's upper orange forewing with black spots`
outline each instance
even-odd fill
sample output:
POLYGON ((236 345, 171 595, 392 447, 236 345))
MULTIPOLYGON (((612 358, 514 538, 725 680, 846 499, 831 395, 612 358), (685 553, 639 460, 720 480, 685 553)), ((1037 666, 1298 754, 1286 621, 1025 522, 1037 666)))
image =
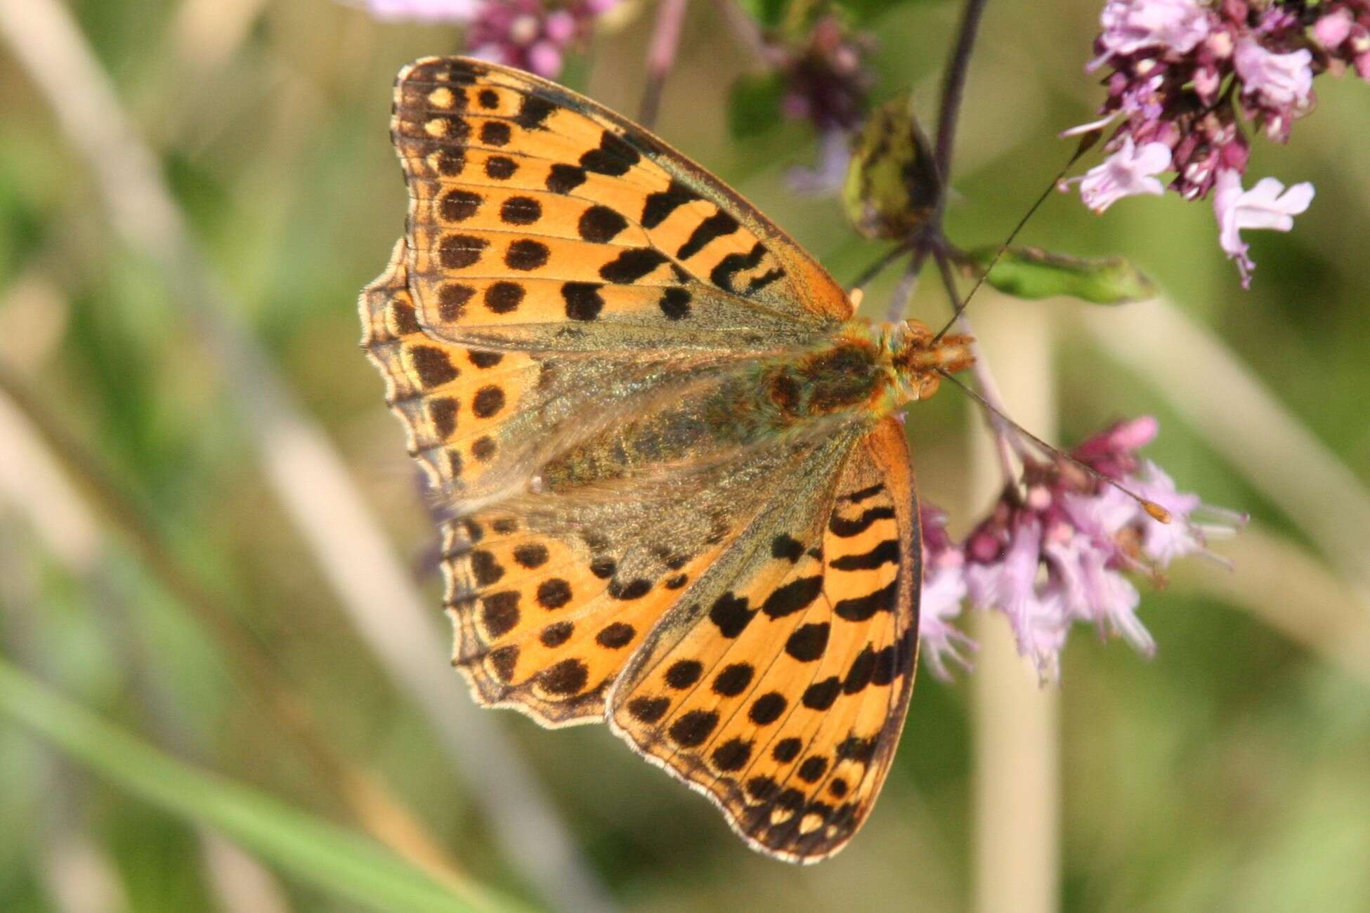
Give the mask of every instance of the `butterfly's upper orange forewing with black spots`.
MULTIPOLYGON (((400 74, 392 130, 426 326, 499 338, 500 326, 573 322, 581 348, 588 333, 621 349, 632 339, 595 324, 645 323, 755 350, 851 313, 822 267, 732 190, 549 82, 423 60, 400 74)), ((519 333, 523 345, 570 345, 519 333)))

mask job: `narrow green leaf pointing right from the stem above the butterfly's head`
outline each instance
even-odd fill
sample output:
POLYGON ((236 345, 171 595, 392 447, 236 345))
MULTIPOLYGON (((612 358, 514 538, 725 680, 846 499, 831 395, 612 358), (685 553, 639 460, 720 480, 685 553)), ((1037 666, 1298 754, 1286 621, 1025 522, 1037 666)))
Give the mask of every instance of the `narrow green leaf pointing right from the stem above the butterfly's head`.
MULTIPOLYGON (((980 248, 971 261, 985 270, 999 248, 980 248)), ((1017 298, 1070 296, 1093 304, 1128 304, 1155 297, 1156 287, 1123 257, 1071 257, 1041 248, 1008 248, 986 279, 1017 298)))

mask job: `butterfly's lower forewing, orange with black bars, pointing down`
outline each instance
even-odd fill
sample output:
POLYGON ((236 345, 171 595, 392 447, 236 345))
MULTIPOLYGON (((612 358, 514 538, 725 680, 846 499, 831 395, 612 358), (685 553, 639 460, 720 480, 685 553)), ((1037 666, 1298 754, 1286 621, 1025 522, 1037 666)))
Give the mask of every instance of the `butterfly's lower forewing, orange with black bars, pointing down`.
POLYGON ((818 513, 790 516, 707 610, 684 602, 611 694, 614 728, 793 861, 864 821, 903 727, 917 654, 919 534, 903 427, 851 448, 818 513))

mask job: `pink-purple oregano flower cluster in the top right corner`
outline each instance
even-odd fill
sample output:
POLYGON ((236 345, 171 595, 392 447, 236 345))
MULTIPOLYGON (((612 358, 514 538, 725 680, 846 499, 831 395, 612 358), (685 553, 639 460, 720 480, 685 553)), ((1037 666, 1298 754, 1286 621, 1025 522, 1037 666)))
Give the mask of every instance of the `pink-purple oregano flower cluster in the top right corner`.
POLYGON ((1288 231, 1314 196, 1270 177, 1245 189, 1248 134, 1288 142, 1322 73, 1370 78, 1370 1, 1108 0, 1100 26, 1086 70, 1106 74, 1103 116, 1066 134, 1118 126, 1108 157, 1074 179, 1081 198, 1096 212, 1167 186, 1211 198, 1218 242, 1248 286, 1241 231, 1288 231))

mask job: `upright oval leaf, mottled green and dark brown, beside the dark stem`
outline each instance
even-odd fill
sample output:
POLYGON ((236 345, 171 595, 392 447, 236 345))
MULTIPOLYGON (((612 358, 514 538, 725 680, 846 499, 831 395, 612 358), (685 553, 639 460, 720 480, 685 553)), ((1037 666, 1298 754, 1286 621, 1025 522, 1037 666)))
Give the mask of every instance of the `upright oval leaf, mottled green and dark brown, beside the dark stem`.
POLYGON ((907 238, 932 218, 940 182, 908 97, 886 101, 862 125, 847 166, 843 205, 867 238, 907 238))

